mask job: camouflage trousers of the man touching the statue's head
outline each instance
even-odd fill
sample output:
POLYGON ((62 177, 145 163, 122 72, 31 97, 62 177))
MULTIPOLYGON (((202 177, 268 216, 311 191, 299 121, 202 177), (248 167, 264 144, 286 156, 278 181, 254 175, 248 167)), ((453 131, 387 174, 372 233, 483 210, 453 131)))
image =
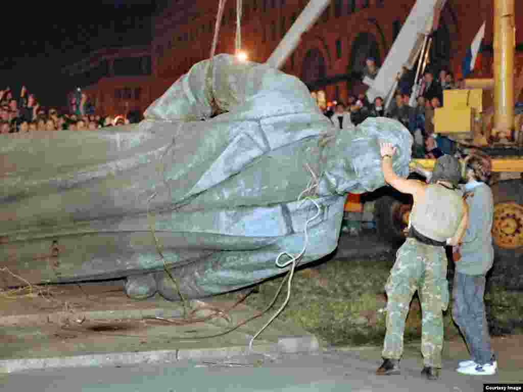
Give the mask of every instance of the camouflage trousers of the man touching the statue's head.
POLYGON ((386 335, 383 358, 400 359, 403 354, 405 319, 414 293, 422 305, 422 354, 425 366, 441 367, 443 315, 449 304, 447 256, 444 247, 407 238, 396 253, 387 293, 386 335))

